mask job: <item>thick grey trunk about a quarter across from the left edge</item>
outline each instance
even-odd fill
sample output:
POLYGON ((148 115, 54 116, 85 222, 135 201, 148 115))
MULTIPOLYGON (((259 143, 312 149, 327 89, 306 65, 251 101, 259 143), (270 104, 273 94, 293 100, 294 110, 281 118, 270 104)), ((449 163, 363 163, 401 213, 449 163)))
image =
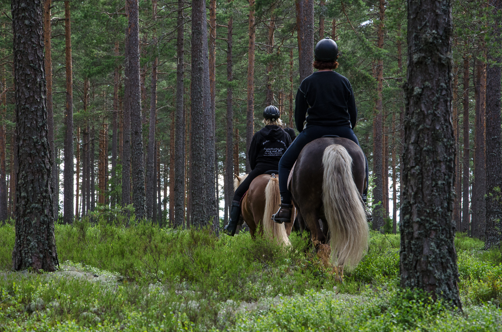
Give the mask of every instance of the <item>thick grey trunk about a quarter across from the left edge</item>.
POLYGON ((138 0, 127 0, 129 5, 127 65, 129 102, 131 107, 131 161, 133 178, 133 206, 138 219, 146 217, 145 176, 143 157, 143 125, 141 121, 140 86, 140 31, 138 0))

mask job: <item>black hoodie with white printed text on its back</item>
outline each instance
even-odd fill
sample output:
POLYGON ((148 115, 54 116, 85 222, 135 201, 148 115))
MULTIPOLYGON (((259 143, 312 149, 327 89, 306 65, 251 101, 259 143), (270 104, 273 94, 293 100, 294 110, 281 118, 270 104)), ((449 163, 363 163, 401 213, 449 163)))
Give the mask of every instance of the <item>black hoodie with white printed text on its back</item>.
POLYGON ((279 160, 286 152, 291 137, 276 125, 269 125, 257 131, 249 147, 249 165, 254 170, 256 167, 268 168, 268 170, 277 170, 279 160))

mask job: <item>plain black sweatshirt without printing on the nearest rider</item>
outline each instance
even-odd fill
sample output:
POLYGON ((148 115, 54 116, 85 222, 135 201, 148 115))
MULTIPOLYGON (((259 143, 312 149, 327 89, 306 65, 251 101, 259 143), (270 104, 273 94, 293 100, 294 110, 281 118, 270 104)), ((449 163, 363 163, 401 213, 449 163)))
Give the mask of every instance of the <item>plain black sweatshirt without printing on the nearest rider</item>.
POLYGON ((296 94, 295 121, 300 132, 311 125, 354 128, 357 107, 348 79, 334 71, 304 79, 296 94))

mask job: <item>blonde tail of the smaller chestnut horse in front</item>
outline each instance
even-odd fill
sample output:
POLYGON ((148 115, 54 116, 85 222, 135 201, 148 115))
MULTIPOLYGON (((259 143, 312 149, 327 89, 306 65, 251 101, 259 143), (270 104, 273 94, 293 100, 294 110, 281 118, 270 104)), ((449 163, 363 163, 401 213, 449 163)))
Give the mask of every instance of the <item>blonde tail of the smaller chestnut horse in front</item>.
POLYGON ((263 229, 265 236, 275 238, 278 244, 289 246, 288 234, 284 224, 275 223, 271 218, 281 204, 281 193, 279 192, 279 179, 277 176, 271 178, 265 187, 265 213, 263 214, 263 229))

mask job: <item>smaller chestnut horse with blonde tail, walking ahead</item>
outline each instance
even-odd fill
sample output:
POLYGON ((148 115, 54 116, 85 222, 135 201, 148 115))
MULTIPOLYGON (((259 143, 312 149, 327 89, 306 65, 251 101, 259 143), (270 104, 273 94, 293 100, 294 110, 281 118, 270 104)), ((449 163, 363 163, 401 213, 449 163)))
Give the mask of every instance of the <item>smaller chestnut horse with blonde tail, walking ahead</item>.
MULTIPOLYGON (((247 177, 235 176, 234 189, 247 177)), ((291 222, 276 224, 272 221, 272 215, 281 204, 281 194, 279 193, 279 179, 277 175, 262 174, 249 185, 247 193, 240 203, 241 218, 249 227, 253 238, 257 231, 268 238, 276 239, 278 244, 290 245, 289 235, 293 228, 295 213, 293 211, 291 222)))

